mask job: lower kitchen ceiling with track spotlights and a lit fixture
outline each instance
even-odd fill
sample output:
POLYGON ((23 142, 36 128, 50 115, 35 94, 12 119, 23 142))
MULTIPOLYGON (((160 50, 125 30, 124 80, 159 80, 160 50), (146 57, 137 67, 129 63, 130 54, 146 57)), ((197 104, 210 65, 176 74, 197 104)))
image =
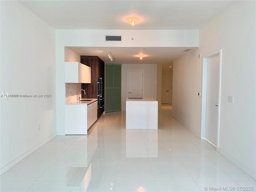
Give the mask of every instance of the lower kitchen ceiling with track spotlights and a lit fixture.
MULTIPOLYGON (((116 64, 162 64, 172 66, 172 60, 187 53, 189 47, 67 47, 79 55, 98 56, 104 62, 116 64), (145 49, 145 50, 144 50, 145 49), (114 58, 110 61, 108 51, 114 58), (143 59, 140 60, 140 56, 143 59)), ((190 48, 193 49, 193 48, 190 48)))

